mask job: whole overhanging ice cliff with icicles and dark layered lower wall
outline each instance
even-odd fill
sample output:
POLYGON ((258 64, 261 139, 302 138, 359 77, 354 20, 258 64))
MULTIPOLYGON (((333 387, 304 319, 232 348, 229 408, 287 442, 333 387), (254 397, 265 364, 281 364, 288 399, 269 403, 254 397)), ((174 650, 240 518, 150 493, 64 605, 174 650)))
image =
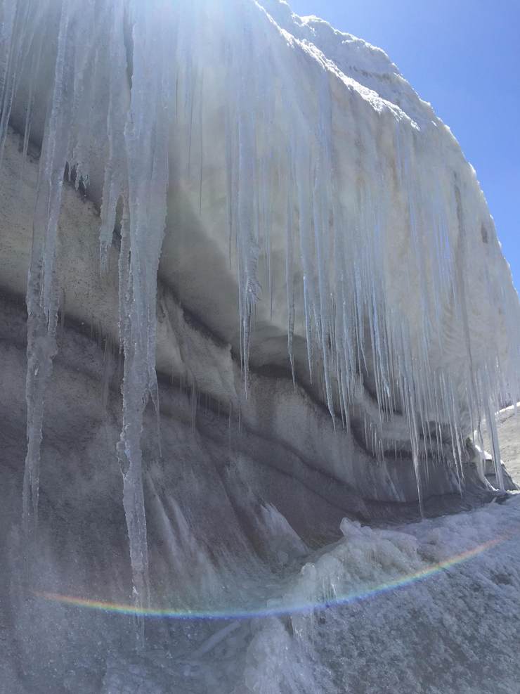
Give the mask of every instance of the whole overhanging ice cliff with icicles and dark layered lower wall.
MULTIPOLYGON (((490 499, 484 417, 511 486, 519 298, 383 51, 278 0, 1 0, 0 23, 9 634, 35 593, 240 611, 233 567, 269 583, 345 516, 490 499)), ((74 690, 65 651, 49 691, 74 690)))

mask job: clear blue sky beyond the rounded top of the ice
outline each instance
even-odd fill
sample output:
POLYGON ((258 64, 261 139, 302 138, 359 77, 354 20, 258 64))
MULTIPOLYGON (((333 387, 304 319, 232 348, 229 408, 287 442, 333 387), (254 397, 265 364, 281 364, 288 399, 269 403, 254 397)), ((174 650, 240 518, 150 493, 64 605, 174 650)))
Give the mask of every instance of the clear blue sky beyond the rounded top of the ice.
POLYGON ((289 0, 380 46, 476 169, 520 290, 520 0, 289 0))

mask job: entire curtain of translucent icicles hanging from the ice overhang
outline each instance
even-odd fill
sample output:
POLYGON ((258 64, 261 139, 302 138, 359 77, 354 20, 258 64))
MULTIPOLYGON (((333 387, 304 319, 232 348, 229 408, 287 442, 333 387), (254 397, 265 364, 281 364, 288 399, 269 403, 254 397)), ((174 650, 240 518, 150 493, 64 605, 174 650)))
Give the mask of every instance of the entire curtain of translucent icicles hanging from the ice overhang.
MULTIPOLYGON (((378 431, 383 430, 384 420, 399 411, 408 423, 419 487, 418 466, 436 446, 441 458, 440 449, 446 440, 450 441, 457 475, 462 479, 463 434, 468 431, 468 420, 479 428, 485 416, 491 423, 497 474, 500 486, 503 484, 493 413, 505 394, 513 395, 510 391, 511 384, 517 382, 514 370, 520 364, 520 340, 518 329, 511 324, 507 340, 512 347, 507 363, 502 363, 494 344, 496 336, 490 330, 489 344, 479 352, 478 360, 474 357, 466 279, 460 262, 469 252, 464 246, 469 242, 456 179, 450 200, 444 190, 435 193, 435 181, 424 181, 424 175, 417 170, 414 124, 398 108, 391 110, 395 185, 406 210, 403 226, 410 237, 408 262, 415 266, 422 302, 422 325, 410 326, 386 296, 383 241, 392 201, 387 191, 389 181, 380 174, 384 167, 379 166, 382 155, 377 143, 370 138, 370 130, 367 134, 360 129, 363 142, 353 153, 359 158, 356 166, 360 184, 356 214, 352 216, 342 205, 342 191, 338 189, 336 172, 342 162, 335 160, 332 146, 330 65, 319 51, 274 29, 260 5, 254 0, 1 3, 1 143, 20 71, 27 70, 30 63, 36 84, 42 42, 48 40, 49 32, 57 44, 27 283, 25 525, 30 529, 37 520, 44 394, 56 353, 56 238, 64 174, 72 172, 76 185, 82 184, 88 191, 89 153, 92 143, 99 143, 105 151, 101 272, 106 270, 117 219, 121 227, 119 335, 124 350, 124 380, 123 426, 117 453, 124 477, 124 509, 138 606, 148 599, 141 432, 147 402, 151 399, 157 409, 159 406, 155 302, 167 216, 169 139, 172 129, 177 136, 181 130, 180 139, 186 143, 182 175, 191 179, 200 176, 202 181, 203 143, 200 162, 193 165, 191 161, 194 114, 202 112, 204 97, 200 57, 204 46, 197 37, 201 25, 212 23, 214 18, 218 18, 215 25, 223 32, 228 225, 238 260, 245 388, 255 307, 262 292, 261 264, 268 265, 270 257, 275 180, 277 199, 282 196, 286 200, 287 335, 293 377, 295 306, 301 302, 308 369, 315 381, 323 380, 325 401, 333 418, 348 426, 347 413, 356 399, 360 373, 370 353, 379 424, 370 422, 367 438, 377 457, 386 455, 386 444, 378 431), (42 27, 49 24, 49 18, 56 27, 44 31, 42 27), (284 68, 287 51, 293 59, 298 54, 306 61, 306 69, 313 72, 316 104, 309 105, 308 93, 299 91, 294 76, 284 68), (257 56, 262 56, 261 60, 257 56), (129 84, 129 89, 122 89, 123 84, 129 84), (96 95, 107 89, 105 130, 93 131, 90 115, 98 108, 96 95), (312 127, 309 120, 313 120, 312 127), (285 143, 282 153, 272 139, 273 131, 277 143, 285 143), (429 195, 429 190, 434 193, 429 195), (450 248, 446 232, 447 205, 456 210, 459 219, 456 250, 450 248), (418 231, 425 227, 429 229, 426 240, 418 231), (296 268, 301 268, 301 286, 293 281, 296 268), (427 276, 428 283, 423 280, 427 276), (430 364, 430 342, 437 340, 442 345, 445 338, 455 339, 441 334, 446 304, 453 311, 453 322, 460 326, 459 348, 467 353, 464 373, 453 374, 449 368, 430 364)), ((25 150, 30 138, 34 84, 27 103, 25 150)), ((504 294, 502 300, 507 316, 509 295, 504 294)), ((516 315, 515 311, 516 307, 512 311, 516 315)), ((421 496, 420 489, 418 493, 421 496)))

